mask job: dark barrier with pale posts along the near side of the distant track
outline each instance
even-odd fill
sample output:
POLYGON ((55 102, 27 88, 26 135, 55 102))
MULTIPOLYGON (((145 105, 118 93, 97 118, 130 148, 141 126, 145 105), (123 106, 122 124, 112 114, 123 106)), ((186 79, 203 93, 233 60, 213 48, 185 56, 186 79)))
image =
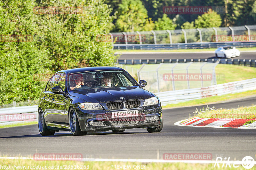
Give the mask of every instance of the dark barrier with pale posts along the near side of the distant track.
POLYGON ((234 65, 243 65, 256 67, 256 60, 252 59, 131 59, 131 60, 116 60, 117 64, 159 64, 159 63, 186 63, 186 62, 216 62, 219 61, 219 64, 234 64, 234 65))

